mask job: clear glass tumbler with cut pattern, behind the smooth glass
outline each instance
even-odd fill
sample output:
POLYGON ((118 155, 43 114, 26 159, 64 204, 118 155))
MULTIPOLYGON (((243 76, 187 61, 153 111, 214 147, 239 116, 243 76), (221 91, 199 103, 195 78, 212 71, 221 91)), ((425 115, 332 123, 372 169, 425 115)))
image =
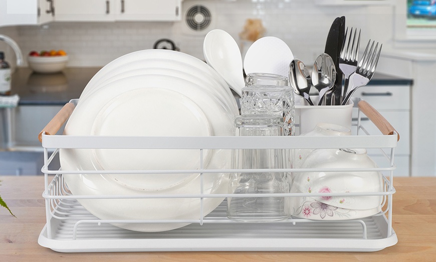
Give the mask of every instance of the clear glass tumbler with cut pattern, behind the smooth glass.
POLYGON ((287 77, 272 73, 249 73, 240 102, 241 114, 282 116, 285 135, 294 135, 294 91, 287 77))

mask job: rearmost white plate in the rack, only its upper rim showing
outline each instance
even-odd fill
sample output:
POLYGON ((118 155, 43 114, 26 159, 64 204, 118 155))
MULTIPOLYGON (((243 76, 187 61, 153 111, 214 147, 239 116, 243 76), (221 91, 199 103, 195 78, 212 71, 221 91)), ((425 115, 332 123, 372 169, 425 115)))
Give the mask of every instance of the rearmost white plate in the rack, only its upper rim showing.
MULTIPOLYGON (((173 50, 167 50, 167 49, 146 49, 146 50, 139 50, 135 52, 131 52, 128 54, 125 54, 123 56, 120 56, 105 66, 101 68, 88 82, 88 84, 85 86, 82 95, 86 95, 86 93, 89 91, 89 89, 94 88, 95 83, 98 83, 101 79, 106 79, 110 77, 117 70, 120 70, 120 68, 125 67, 126 70, 131 70, 135 68, 141 68, 141 67, 135 67, 137 65, 129 65, 131 62, 140 62, 142 60, 146 59, 169 59, 173 61, 178 61, 185 63, 187 65, 193 66, 199 70, 202 70, 205 73, 210 73, 214 79, 218 80, 222 86, 227 86, 227 92, 231 97, 233 97, 232 92, 230 91, 230 88, 228 87, 226 81, 224 78, 218 74, 212 67, 210 67, 205 62, 201 61, 200 59, 178 51, 173 50)), ((82 98, 82 96, 81 96, 82 98)))

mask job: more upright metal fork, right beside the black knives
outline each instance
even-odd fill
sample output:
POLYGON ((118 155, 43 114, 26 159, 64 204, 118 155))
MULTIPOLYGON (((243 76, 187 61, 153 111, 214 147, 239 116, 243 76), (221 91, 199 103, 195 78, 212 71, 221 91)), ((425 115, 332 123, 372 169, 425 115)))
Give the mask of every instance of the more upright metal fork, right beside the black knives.
POLYGON ((357 41, 356 41, 356 33, 357 33, 357 28, 354 30, 354 36, 352 37, 353 27, 351 27, 350 34, 348 35, 348 27, 347 27, 347 29, 345 30, 344 43, 342 45, 342 50, 339 56, 339 68, 344 74, 343 96, 345 96, 348 91, 349 77, 353 72, 356 71, 357 68, 359 43, 360 43, 360 29, 359 29, 359 36, 357 37, 357 41), (353 41, 351 41, 351 37, 353 38, 353 41))

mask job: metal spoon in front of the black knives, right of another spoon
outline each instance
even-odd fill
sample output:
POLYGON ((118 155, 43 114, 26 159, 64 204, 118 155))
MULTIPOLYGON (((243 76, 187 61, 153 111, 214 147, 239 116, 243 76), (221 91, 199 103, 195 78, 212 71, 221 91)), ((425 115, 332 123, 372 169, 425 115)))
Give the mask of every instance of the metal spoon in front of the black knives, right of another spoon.
POLYGON ((335 63, 326 53, 320 54, 313 64, 312 84, 319 91, 318 105, 323 102, 324 95, 333 88, 336 80, 335 63))

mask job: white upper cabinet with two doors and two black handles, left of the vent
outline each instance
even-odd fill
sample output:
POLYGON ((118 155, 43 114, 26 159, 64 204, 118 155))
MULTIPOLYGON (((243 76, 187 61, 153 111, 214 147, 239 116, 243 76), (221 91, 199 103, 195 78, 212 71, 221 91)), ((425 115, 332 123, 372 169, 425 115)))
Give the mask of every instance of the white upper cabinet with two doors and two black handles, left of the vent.
POLYGON ((55 21, 180 20, 181 0, 55 0, 55 21))

